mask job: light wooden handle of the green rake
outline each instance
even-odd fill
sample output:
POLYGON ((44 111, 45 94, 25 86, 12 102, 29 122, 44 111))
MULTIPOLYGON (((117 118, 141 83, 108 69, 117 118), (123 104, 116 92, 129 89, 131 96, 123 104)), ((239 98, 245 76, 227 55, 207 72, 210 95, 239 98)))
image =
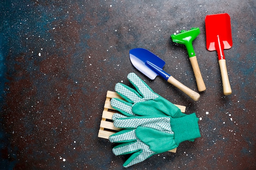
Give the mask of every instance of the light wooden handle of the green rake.
POLYGON ((200 69, 198 66, 198 60, 196 60, 196 56, 189 57, 189 60, 191 62, 192 68, 193 68, 193 72, 195 75, 195 81, 198 86, 198 91, 205 91, 206 87, 205 87, 204 80, 203 80, 203 77, 201 75, 201 72, 200 72, 200 69))

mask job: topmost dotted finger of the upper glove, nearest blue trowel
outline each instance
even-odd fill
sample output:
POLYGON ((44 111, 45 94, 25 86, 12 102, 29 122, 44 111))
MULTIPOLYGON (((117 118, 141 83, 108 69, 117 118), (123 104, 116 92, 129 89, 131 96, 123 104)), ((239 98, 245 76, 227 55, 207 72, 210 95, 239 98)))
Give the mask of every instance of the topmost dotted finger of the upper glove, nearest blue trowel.
POLYGON ((144 97, 145 99, 155 99, 159 97, 153 90, 135 73, 129 73, 127 78, 132 83, 132 85, 137 89, 137 91, 144 97))

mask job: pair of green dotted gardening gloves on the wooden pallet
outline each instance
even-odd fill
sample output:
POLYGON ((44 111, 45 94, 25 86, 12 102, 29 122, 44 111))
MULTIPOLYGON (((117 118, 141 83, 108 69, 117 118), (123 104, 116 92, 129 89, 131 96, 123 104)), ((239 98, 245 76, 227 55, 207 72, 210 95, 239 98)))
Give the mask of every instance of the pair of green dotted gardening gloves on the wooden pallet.
POLYGON ((109 137, 110 142, 121 143, 113 148, 113 153, 132 154, 124 167, 177 148, 182 141, 200 137, 195 113, 182 113, 177 106, 154 93, 135 73, 127 77, 136 90, 117 83, 115 91, 126 101, 117 98, 110 101, 111 106, 122 113, 113 115, 114 126, 124 128, 109 137))

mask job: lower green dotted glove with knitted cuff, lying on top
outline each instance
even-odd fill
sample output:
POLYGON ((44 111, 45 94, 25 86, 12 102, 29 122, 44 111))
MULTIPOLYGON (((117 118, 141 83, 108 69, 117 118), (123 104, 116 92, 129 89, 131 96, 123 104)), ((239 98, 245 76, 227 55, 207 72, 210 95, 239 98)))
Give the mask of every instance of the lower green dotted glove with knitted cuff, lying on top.
POLYGON ((114 125, 124 128, 109 137, 121 143, 113 148, 115 155, 132 154, 124 167, 144 161, 148 157, 177 148, 182 141, 200 137, 195 113, 180 118, 126 117, 115 113, 114 125))

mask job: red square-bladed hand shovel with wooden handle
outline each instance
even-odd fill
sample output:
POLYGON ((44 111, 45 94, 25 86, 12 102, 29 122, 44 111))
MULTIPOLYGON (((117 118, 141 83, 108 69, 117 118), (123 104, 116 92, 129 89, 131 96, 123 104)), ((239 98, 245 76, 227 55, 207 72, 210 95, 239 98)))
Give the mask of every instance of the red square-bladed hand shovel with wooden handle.
POLYGON ((232 46, 230 16, 227 13, 207 15, 205 17, 206 48, 217 51, 224 95, 230 95, 231 87, 227 74, 224 49, 232 46))

